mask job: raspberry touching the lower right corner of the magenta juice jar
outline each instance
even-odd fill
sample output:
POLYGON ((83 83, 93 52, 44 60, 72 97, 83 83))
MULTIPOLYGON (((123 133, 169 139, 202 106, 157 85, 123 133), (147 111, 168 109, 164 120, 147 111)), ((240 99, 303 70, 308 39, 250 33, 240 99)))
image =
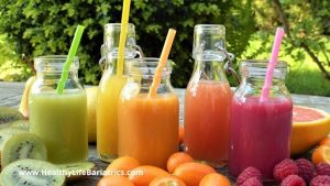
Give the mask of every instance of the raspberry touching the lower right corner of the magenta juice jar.
POLYGON ((298 166, 295 161, 285 158, 274 167, 273 174, 276 180, 282 182, 288 175, 297 175, 298 166))

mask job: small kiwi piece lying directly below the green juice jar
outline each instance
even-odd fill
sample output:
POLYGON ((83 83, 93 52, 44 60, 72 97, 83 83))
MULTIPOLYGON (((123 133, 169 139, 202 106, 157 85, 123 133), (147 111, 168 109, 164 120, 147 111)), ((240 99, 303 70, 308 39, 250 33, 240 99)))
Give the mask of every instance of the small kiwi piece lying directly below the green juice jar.
POLYGON ((79 179, 87 175, 87 172, 95 167, 95 164, 91 162, 73 162, 67 164, 58 164, 59 169, 66 175, 68 182, 79 179))

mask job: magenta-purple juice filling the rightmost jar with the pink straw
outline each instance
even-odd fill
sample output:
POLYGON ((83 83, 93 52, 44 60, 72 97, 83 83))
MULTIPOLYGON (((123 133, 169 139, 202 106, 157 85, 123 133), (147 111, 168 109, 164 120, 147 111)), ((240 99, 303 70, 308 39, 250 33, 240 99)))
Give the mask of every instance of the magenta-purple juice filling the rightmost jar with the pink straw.
POLYGON ((274 166, 289 157, 292 101, 234 98, 231 114, 230 174, 238 176, 244 168, 254 166, 264 179, 272 179, 274 166))

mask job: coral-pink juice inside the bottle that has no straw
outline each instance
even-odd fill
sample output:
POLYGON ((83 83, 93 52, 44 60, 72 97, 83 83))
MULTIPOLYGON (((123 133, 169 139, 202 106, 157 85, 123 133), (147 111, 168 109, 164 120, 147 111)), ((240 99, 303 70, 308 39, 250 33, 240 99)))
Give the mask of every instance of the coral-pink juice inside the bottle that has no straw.
POLYGON ((221 165, 228 161, 232 91, 228 83, 188 85, 185 100, 185 145, 194 158, 221 165))

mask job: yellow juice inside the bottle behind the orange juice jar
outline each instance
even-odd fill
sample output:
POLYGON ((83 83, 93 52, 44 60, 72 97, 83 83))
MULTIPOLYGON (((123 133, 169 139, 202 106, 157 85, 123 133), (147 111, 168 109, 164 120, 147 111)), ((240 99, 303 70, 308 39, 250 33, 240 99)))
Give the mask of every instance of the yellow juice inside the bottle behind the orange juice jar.
POLYGON ((125 76, 105 74, 97 102, 97 151, 103 161, 118 156, 118 100, 125 76))

